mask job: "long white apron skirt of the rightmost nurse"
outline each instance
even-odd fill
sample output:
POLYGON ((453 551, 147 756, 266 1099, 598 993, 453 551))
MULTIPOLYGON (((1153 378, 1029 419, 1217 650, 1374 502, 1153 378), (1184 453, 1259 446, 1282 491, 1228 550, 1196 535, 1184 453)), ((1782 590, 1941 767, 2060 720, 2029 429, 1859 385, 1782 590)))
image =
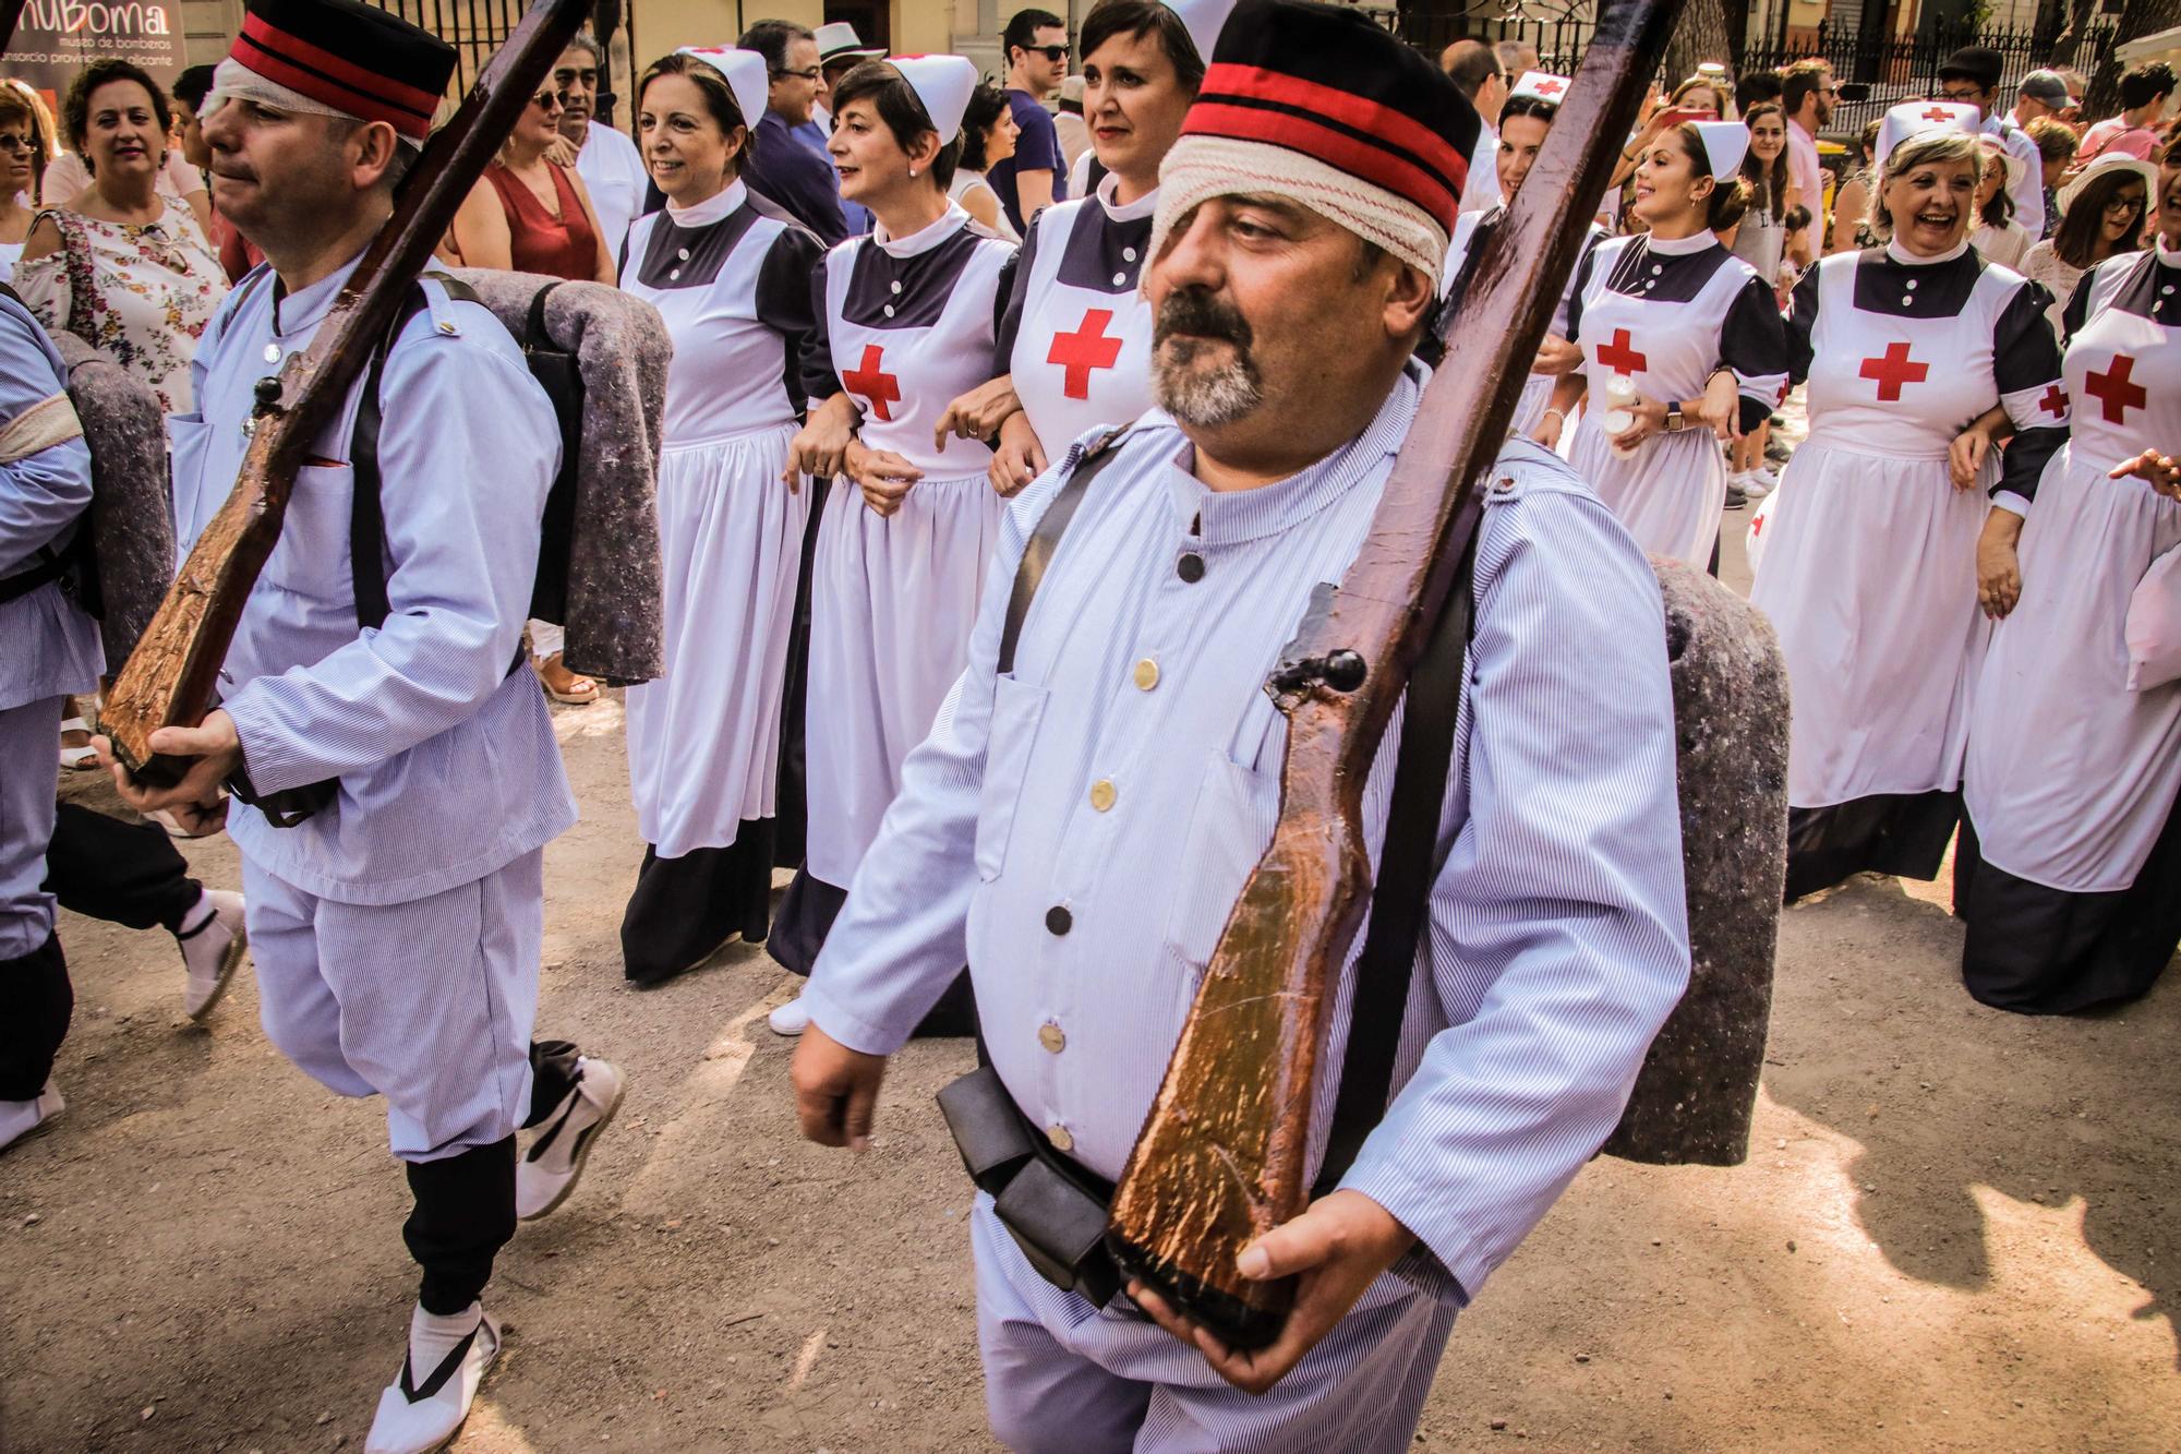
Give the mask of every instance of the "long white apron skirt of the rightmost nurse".
POLYGON ((2068 893, 2129 889, 2181 792, 2181 683, 2131 692, 2122 635, 2150 561, 2181 550, 2181 502, 2109 467, 2046 465, 1969 729, 1985 862, 2068 893))

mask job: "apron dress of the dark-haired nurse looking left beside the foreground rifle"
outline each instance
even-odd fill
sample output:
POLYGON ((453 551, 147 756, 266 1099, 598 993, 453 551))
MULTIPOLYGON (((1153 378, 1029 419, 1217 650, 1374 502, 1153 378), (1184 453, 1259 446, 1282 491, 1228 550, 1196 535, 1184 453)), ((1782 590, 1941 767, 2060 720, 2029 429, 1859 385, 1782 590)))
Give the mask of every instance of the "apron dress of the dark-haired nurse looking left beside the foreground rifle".
POLYGON ((1629 378, 1653 402, 1695 400, 1723 367, 1740 384, 1743 428, 1756 428, 1786 391, 1786 330, 1771 282, 1710 231, 1607 238, 1577 266, 1568 338, 1583 345, 1590 384, 1568 463, 1638 546, 1703 570, 1727 500, 1716 437, 1708 428, 1658 432, 1623 458, 1605 443, 1607 382, 1629 378))

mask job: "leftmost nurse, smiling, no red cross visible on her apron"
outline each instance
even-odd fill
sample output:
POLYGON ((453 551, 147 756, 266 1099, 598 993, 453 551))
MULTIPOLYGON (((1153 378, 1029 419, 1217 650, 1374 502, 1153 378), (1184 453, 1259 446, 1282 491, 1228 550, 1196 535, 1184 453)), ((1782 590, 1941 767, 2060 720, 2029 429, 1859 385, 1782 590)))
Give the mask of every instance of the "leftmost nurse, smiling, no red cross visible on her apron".
POLYGON ((630 980, 656 985, 766 937, 781 681, 809 491, 781 487, 803 413, 809 275, 824 251, 742 183, 763 116, 752 50, 680 50, 637 87, 667 203, 628 231, 622 286, 674 338, 659 548, 665 675, 628 688, 643 869, 622 917, 630 980))

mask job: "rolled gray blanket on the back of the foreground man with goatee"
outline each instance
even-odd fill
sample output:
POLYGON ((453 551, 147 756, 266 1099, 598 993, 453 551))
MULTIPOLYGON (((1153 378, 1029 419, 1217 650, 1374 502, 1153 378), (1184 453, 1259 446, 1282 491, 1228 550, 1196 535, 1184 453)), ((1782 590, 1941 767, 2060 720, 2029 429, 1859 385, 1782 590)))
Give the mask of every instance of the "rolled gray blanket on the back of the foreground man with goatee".
POLYGON ((1603 1151, 1734 1166, 1749 1155, 1786 884, 1786 662, 1747 600, 1679 561, 1651 568, 1666 598, 1692 967, 1603 1151))

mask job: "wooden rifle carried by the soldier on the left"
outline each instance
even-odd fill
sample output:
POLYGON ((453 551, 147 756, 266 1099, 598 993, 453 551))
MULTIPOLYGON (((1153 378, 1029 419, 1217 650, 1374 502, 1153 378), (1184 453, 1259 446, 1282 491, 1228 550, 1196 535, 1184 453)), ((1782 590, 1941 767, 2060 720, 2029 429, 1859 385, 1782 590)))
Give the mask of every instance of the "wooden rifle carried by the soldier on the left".
POLYGON ((279 376, 260 380, 236 487, 198 535, 98 712, 98 731, 113 740, 113 755, 140 784, 172 786, 188 771, 185 758, 153 753, 150 734, 205 718, 251 587, 279 541, 297 469, 340 415, 462 199, 589 11, 591 0, 530 7, 462 107, 425 142, 393 216, 364 249, 310 347, 292 354, 279 376))

